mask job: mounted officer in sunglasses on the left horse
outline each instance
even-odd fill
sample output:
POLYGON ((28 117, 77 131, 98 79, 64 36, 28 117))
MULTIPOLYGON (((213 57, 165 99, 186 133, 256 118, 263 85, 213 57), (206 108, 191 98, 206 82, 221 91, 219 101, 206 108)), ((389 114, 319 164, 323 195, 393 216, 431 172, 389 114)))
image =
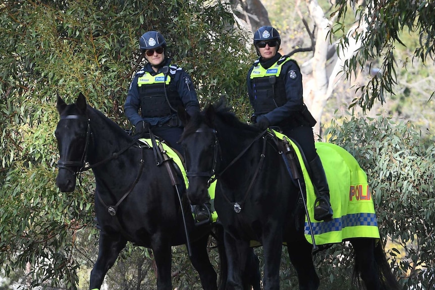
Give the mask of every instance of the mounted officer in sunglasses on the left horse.
MULTIPOLYGON (((139 38, 139 48, 147 62, 130 84, 124 103, 126 117, 135 125, 136 134, 151 128, 156 136, 184 155, 177 143, 183 133, 177 110, 182 106, 192 116, 199 113, 192 79, 185 70, 171 65, 166 40, 160 32, 145 32, 139 38)), ((197 221, 209 220, 209 204, 196 207, 195 215, 197 221)))

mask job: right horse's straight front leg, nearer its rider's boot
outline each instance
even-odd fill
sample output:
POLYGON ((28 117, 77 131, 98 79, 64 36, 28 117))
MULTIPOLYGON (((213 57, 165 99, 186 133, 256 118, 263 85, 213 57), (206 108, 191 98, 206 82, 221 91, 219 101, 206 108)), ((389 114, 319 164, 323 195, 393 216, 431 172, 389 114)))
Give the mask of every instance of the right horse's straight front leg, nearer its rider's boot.
POLYGON ((280 264, 283 252, 282 226, 268 224, 263 228, 264 290, 279 290, 280 264))

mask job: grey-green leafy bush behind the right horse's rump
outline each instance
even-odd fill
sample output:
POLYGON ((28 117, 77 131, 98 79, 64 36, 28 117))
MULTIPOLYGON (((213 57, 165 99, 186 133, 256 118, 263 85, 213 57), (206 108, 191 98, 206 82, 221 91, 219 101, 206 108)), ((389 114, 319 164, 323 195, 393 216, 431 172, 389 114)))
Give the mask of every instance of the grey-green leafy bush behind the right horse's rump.
POLYGON ((325 136, 366 171, 380 233, 393 242, 388 256, 396 275, 403 275, 407 287, 430 289, 435 283, 435 138, 382 116, 348 117, 333 120, 325 136), (397 248, 406 254, 398 255, 397 248), (426 287, 418 285, 421 281, 426 287))

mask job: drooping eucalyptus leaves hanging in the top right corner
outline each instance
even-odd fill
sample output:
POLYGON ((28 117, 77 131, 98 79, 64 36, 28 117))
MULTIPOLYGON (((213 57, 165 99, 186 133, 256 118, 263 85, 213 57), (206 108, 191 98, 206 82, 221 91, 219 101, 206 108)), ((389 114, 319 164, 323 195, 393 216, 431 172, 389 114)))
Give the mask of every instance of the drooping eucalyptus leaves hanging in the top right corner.
MULTIPOLYGON (((344 19, 348 9, 348 1, 337 1, 337 25, 335 31, 345 31, 344 19)), ((370 109, 378 100, 385 102, 388 95, 394 94, 397 84, 397 55, 394 53, 397 44, 405 45, 402 32, 414 32, 418 36, 418 45, 414 56, 425 63, 435 57, 435 27, 433 26, 433 1, 394 0, 367 1, 357 9, 360 27, 367 25, 367 32, 358 32, 355 37, 361 38, 362 46, 346 63, 348 76, 357 74, 366 63, 379 59, 382 74, 372 76, 366 85, 359 87, 361 96, 353 100, 352 106, 359 104, 363 109, 370 109)), ((413 43, 410 43, 413 45, 413 43)), ((341 46, 348 45, 344 37, 341 46)))

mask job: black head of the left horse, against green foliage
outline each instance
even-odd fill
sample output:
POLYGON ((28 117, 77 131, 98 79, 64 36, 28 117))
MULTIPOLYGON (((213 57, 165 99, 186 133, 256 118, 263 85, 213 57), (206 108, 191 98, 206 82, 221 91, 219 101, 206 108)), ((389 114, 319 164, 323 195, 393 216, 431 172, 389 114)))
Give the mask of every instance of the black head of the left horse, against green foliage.
POLYGON ((58 95, 57 109, 60 120, 55 131, 60 159, 56 185, 62 192, 72 192, 77 173, 84 167, 86 147, 89 143, 89 122, 86 98, 80 93, 74 104, 67 105, 58 95))

